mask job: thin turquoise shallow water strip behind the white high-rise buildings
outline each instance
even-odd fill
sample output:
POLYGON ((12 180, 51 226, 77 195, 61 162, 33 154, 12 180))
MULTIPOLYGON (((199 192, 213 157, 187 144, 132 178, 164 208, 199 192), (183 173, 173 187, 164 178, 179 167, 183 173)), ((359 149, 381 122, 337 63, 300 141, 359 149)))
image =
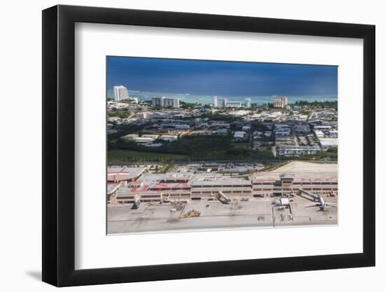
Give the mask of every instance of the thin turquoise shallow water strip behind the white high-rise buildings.
MULTIPOLYGON (((188 93, 167 93, 167 92, 139 92, 129 90, 130 97, 137 97, 139 100, 151 100, 153 97, 179 97, 182 102, 213 104, 214 95, 189 95, 188 93)), ((107 97, 113 98, 113 90, 107 90, 107 97)), ((218 98, 226 98, 228 101, 244 102, 246 97, 251 99, 252 104, 263 105, 272 103, 274 99, 279 98, 276 95, 269 96, 220 96, 218 98)), ((334 102, 337 95, 287 95, 289 104, 300 101, 307 102, 334 102)))

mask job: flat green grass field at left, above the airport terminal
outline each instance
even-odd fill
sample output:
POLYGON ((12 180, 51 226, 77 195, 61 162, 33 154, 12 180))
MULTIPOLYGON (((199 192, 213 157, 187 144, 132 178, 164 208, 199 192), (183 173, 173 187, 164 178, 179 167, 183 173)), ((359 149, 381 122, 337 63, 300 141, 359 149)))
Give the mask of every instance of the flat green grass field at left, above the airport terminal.
POLYGON ((130 150, 109 151, 109 162, 167 162, 172 160, 184 160, 186 155, 139 152, 130 150))

